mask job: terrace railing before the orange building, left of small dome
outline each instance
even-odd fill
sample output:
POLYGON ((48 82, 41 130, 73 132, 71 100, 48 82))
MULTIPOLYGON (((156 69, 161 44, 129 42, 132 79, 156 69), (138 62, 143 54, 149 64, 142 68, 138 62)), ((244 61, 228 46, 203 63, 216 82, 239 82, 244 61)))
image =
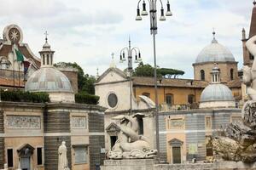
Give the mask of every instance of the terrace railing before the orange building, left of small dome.
POLYGON ((169 104, 159 105, 159 111, 187 111, 187 110, 195 110, 198 108, 199 108, 198 103, 187 104, 187 105, 169 105, 169 104))

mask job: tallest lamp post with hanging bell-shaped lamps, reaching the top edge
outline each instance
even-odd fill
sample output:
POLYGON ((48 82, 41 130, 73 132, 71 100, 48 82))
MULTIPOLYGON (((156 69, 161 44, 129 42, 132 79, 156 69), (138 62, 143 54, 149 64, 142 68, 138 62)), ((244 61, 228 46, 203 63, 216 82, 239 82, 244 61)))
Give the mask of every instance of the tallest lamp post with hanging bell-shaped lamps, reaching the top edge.
MULTIPOLYGON (((143 0, 143 11, 140 13, 140 3, 142 0, 139 0, 137 3, 137 17, 136 20, 143 20, 141 15, 148 15, 147 8, 146 8, 146 3, 145 0, 143 0)), ((155 116, 155 138, 156 138, 156 149, 158 150, 158 158, 160 158, 160 143, 159 143, 159 104, 158 104, 158 94, 157 94, 157 72, 156 72, 156 52, 155 52, 155 35, 157 34, 157 10, 156 10, 156 2, 157 0, 148 0, 149 3, 149 16, 150 16, 150 33, 153 35, 153 45, 154 45, 154 97, 155 97, 155 111, 154 111, 154 116, 155 116)), ((165 17, 165 10, 163 8, 163 3, 160 0, 160 21, 166 20, 165 17)), ((169 0, 167 0, 167 11, 166 11, 166 16, 172 16, 171 8, 170 8, 170 3, 169 0)))

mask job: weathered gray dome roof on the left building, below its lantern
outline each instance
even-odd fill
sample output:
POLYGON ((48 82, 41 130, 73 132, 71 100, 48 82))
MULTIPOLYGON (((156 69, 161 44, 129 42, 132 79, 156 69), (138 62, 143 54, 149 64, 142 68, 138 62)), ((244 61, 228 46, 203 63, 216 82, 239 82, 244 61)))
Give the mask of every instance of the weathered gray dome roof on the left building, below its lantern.
POLYGON ((28 78, 25 90, 29 92, 73 93, 68 78, 53 66, 41 67, 28 78))

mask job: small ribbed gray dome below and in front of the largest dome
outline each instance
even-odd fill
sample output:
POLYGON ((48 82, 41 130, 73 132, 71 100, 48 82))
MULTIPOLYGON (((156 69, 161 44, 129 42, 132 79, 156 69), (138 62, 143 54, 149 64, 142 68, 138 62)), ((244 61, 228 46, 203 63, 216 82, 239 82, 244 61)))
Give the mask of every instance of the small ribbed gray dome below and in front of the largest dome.
POLYGON ((207 86, 201 93, 201 102, 207 101, 235 101, 230 88, 220 83, 207 86))

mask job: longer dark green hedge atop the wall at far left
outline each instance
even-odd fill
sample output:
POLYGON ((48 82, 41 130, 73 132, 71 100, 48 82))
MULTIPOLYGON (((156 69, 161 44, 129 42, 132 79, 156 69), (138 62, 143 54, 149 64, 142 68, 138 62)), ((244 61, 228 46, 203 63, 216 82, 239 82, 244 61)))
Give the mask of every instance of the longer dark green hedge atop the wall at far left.
POLYGON ((3 101, 14 101, 14 102, 33 102, 33 103, 45 103, 49 102, 49 94, 30 93, 24 91, 1 91, 1 99, 3 101))

